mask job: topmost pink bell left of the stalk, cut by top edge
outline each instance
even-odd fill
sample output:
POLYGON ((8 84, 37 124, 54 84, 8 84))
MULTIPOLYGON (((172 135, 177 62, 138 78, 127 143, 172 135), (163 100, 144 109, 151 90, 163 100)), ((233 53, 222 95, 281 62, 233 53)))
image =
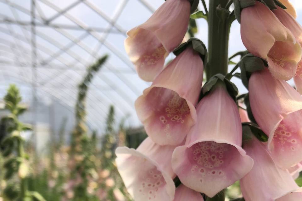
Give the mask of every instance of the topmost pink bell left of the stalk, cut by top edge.
POLYGON ((165 57, 182 42, 190 8, 188 0, 167 0, 145 23, 127 32, 125 49, 143 80, 153 81, 165 57))

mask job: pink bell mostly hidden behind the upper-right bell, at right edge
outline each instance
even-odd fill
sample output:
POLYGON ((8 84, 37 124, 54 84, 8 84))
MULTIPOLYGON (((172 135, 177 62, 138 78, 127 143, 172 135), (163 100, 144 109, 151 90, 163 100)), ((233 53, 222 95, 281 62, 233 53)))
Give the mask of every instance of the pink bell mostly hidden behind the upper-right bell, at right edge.
MULTIPOLYGON (((300 24, 285 10, 278 7, 278 9, 273 10, 273 13, 280 20, 280 22, 286 26, 296 37, 297 42, 302 46, 302 27, 300 24)), ((296 84, 297 90, 302 94, 302 62, 299 62, 297 70, 294 76, 294 82, 296 84)))

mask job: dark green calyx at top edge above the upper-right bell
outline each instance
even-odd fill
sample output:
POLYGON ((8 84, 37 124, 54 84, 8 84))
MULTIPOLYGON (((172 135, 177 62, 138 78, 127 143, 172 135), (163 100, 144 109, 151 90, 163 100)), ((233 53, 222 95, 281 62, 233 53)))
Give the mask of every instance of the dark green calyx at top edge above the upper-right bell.
MULTIPOLYGON (((267 8, 273 10, 277 9, 277 6, 286 9, 286 7, 278 0, 257 0, 263 3, 267 8)), ((237 21, 240 23, 240 14, 243 8, 253 6, 256 4, 256 0, 234 0, 234 14, 237 21)))

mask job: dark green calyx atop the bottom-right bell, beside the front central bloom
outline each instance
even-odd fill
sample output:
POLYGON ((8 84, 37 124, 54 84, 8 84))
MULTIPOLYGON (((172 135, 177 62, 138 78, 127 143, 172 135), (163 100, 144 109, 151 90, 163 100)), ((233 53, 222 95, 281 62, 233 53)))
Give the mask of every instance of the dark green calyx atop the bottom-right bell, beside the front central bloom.
POLYGON ((242 123, 242 140, 250 140, 255 136, 261 142, 267 142, 268 136, 261 130, 261 128, 252 122, 242 123))

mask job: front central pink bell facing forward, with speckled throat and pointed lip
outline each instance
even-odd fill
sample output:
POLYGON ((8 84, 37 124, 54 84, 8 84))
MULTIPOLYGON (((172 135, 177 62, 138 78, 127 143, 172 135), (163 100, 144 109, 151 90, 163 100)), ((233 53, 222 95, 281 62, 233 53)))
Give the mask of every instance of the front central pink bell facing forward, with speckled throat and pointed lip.
POLYGON ((241 148, 238 108, 224 84, 216 84, 197 106, 197 123, 184 146, 177 147, 172 167, 187 187, 213 197, 248 173, 253 160, 241 148))

